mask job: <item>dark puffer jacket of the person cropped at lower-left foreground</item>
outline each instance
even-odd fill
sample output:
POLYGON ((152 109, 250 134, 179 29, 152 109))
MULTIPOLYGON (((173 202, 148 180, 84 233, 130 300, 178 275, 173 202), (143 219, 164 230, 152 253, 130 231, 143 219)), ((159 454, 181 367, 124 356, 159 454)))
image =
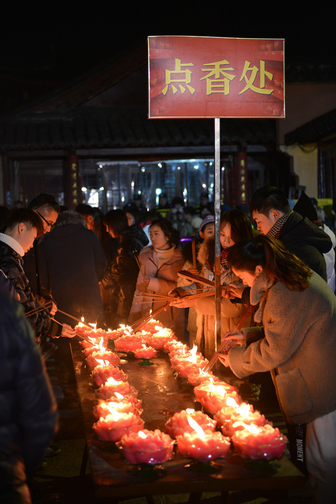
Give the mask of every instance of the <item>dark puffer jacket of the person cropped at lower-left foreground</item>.
POLYGON ((0 292, 0 306, 0 501, 8 502, 4 495, 11 480, 20 481, 22 473, 24 477, 22 459, 28 476, 40 462, 54 435, 57 413, 20 303, 0 292))

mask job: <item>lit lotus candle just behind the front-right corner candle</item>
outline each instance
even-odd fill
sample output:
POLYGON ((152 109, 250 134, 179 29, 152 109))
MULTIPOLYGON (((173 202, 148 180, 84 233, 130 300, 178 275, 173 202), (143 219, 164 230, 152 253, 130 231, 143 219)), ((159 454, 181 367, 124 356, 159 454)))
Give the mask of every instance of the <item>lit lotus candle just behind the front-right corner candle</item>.
POLYGON ((260 414, 260 411, 254 411, 251 404, 241 403, 239 405, 232 398, 228 398, 226 402, 227 406, 214 415, 218 427, 221 428, 225 436, 232 436, 236 430, 242 430, 243 424, 260 426, 269 423, 264 415, 260 414))

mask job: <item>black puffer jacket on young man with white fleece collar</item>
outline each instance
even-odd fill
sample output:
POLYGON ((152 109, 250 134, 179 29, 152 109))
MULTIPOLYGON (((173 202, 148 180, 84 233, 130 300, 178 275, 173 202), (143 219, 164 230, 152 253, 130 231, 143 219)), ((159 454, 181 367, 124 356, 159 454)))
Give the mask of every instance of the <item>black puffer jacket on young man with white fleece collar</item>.
MULTIPOLYGON (((19 294, 20 303, 25 313, 42 307, 42 305, 36 301, 30 290, 27 277, 23 271, 22 257, 3 241, 0 241, 0 268, 8 276, 19 294)), ((28 320, 35 331, 36 340, 38 342, 41 341, 43 336, 47 336, 48 334, 59 336, 61 332, 61 326, 51 321, 47 310, 35 312, 28 317, 28 320)))

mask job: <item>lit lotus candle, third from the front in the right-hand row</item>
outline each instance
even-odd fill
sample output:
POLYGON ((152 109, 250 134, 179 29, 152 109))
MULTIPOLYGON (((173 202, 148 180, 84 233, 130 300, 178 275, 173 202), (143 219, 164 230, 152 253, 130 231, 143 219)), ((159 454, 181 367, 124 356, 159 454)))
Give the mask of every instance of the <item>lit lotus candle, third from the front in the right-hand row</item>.
POLYGON ((238 404, 242 403, 237 390, 236 387, 225 382, 204 382, 194 388, 194 394, 202 407, 209 413, 214 414, 227 406, 226 400, 229 397, 232 397, 238 404))

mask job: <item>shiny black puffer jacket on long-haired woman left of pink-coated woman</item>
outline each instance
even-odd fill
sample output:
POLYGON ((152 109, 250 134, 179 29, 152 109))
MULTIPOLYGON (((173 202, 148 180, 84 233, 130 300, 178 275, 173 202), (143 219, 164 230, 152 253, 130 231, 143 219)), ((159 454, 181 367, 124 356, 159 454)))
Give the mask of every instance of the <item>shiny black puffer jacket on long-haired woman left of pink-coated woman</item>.
POLYGON ((105 290, 105 305, 110 313, 118 314, 117 322, 126 322, 136 290, 139 267, 135 254, 148 244, 148 238, 137 224, 129 226, 119 236, 117 254, 101 281, 105 290))

